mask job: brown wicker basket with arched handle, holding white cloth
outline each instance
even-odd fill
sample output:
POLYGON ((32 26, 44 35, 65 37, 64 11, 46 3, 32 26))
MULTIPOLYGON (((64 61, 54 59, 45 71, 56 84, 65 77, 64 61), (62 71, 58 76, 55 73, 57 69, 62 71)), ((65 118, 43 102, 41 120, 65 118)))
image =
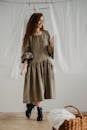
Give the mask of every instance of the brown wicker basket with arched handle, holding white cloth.
MULTIPOLYGON (((78 108, 68 105, 64 108, 73 108, 77 112, 73 113, 76 118, 65 120, 58 130, 87 130, 87 113, 80 112, 78 108)), ((57 130, 52 128, 52 130, 57 130)))

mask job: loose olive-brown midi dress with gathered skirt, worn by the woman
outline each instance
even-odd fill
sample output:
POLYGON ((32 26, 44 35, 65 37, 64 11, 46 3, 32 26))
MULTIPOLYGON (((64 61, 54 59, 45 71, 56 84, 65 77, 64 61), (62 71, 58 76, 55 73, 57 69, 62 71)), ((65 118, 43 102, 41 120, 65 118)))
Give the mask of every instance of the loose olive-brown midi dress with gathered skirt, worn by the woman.
POLYGON ((31 35, 21 56, 21 63, 28 61, 24 79, 23 103, 55 98, 54 49, 50 34, 31 35))

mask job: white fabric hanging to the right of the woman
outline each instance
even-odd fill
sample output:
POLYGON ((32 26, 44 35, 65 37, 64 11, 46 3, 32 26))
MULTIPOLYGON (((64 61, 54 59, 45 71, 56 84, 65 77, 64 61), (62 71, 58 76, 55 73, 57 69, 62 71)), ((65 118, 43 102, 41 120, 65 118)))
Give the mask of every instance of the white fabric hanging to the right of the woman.
POLYGON ((66 74, 87 73, 87 1, 60 2, 51 8, 55 55, 66 74))

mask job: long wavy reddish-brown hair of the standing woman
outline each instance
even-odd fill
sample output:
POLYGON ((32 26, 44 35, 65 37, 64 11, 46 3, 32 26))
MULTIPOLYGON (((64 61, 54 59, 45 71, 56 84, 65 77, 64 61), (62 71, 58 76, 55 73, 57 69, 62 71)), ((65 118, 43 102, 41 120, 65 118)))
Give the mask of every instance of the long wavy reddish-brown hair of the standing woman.
MULTIPOLYGON (((25 47, 29 36, 32 35, 33 33, 35 33, 38 21, 40 20, 41 16, 43 16, 42 13, 33 13, 31 15, 31 17, 30 17, 30 19, 27 23, 27 26, 26 26, 25 35, 24 35, 24 38, 23 38, 22 50, 25 47)), ((44 30, 43 26, 42 26, 41 30, 44 30)))

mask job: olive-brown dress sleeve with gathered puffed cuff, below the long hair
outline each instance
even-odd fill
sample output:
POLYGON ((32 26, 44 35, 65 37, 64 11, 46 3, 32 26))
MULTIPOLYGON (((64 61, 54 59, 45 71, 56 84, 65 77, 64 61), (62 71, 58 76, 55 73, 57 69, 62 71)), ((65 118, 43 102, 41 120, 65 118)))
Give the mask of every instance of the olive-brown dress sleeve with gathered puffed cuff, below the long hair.
POLYGON ((22 55, 21 55, 21 63, 24 63, 25 60, 28 62, 32 60, 33 54, 31 52, 30 42, 27 40, 26 46, 23 49, 22 55))

